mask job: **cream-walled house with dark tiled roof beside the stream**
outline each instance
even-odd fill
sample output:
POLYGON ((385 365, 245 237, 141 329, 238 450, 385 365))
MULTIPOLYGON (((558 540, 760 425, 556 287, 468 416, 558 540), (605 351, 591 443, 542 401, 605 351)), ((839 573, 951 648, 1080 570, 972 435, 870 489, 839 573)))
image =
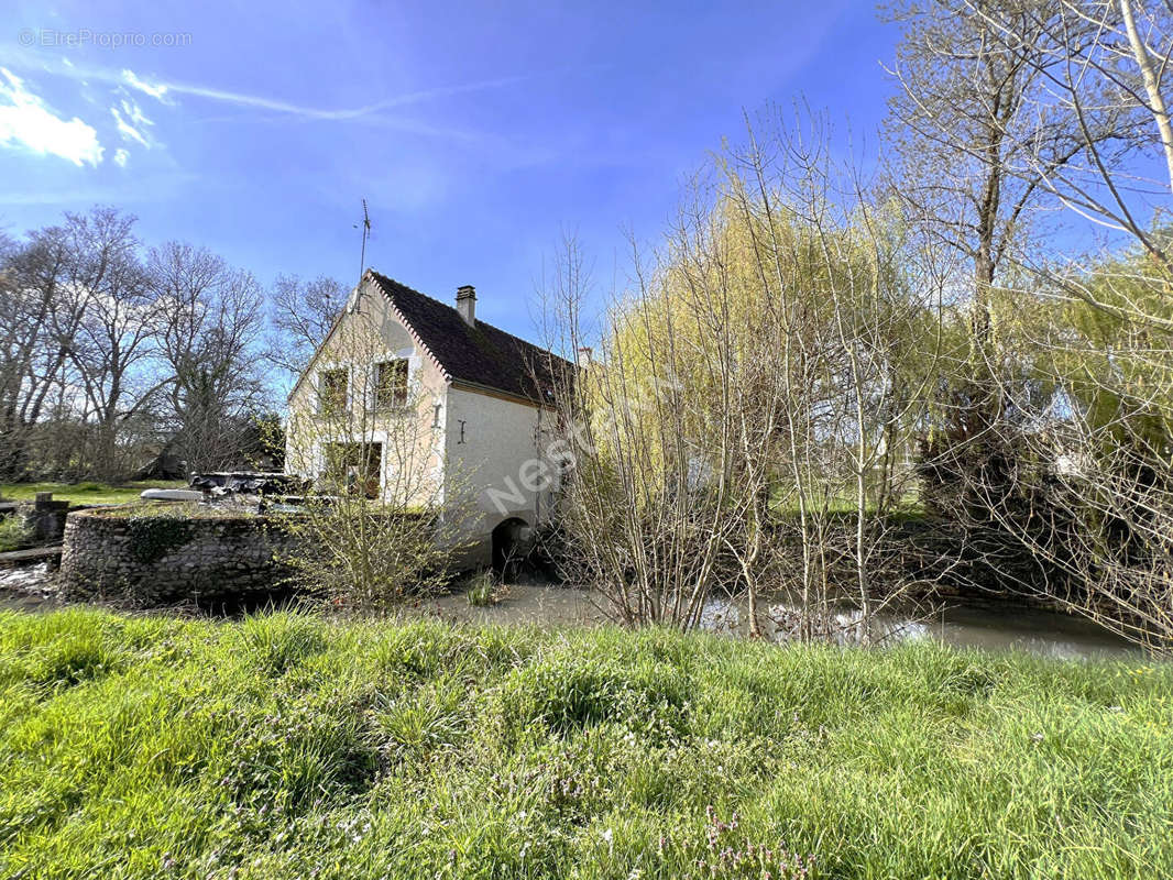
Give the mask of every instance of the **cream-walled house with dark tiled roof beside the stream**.
POLYGON ((337 492, 461 503, 468 564, 526 541, 551 513, 556 384, 570 364, 366 271, 290 393, 286 472, 337 492))

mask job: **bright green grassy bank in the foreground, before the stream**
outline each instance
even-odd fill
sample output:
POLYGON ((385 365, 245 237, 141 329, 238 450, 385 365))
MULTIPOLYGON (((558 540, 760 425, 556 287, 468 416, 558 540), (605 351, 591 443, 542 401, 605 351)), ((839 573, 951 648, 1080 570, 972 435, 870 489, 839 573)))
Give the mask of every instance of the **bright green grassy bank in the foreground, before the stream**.
POLYGON ((7 612, 0 876, 1171 876, 1171 720, 1162 665, 7 612))

